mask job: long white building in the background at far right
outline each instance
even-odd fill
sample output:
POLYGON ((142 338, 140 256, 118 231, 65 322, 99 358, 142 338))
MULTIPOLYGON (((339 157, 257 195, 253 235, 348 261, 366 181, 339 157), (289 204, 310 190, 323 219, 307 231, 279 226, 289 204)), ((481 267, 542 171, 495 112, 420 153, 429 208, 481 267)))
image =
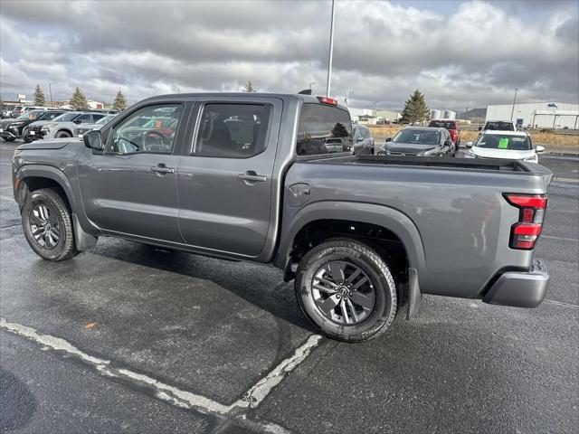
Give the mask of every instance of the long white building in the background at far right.
POLYGON ((530 102, 500 104, 487 108, 486 120, 514 120, 518 127, 577 129, 579 104, 565 102, 530 102))

